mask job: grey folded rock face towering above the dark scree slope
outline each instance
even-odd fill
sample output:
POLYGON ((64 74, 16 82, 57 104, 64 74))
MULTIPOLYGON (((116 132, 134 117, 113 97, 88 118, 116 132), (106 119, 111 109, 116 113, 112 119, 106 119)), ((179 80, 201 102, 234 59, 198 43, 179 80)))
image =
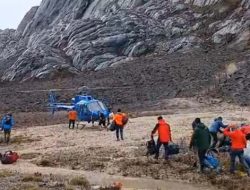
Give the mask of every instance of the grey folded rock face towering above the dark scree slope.
POLYGON ((207 42, 248 48, 249 7, 250 0, 43 0, 16 31, 0 31, 1 79, 100 70, 207 42))

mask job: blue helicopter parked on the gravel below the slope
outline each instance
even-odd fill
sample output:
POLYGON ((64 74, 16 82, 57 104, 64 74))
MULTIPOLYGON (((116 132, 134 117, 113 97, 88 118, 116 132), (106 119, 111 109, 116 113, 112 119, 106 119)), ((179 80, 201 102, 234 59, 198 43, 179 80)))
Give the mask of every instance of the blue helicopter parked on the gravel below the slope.
POLYGON ((61 110, 76 110, 78 121, 86 121, 88 123, 99 120, 100 114, 102 113, 109 121, 110 108, 108 108, 102 101, 93 98, 93 96, 88 95, 89 93, 84 93, 81 91, 79 95, 76 95, 71 99, 71 103, 58 103, 56 100, 55 91, 51 90, 49 92, 49 108, 54 114, 56 111, 61 110))

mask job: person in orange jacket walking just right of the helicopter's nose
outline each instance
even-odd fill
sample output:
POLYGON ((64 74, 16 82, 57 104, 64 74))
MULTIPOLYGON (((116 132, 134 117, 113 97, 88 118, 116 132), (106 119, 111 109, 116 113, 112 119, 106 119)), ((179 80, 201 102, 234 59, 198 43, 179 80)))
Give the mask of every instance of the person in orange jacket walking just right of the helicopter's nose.
POLYGON ((116 138, 117 141, 120 141, 119 134, 121 136, 121 140, 123 140, 123 128, 124 128, 124 117, 126 115, 121 112, 121 109, 117 110, 117 113, 114 115, 115 129, 116 129, 116 138))

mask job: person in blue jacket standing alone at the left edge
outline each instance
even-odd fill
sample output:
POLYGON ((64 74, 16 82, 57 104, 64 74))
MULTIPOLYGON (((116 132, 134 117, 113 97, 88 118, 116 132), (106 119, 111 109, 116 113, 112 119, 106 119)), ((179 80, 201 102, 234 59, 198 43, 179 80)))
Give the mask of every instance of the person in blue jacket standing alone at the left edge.
POLYGON ((7 114, 3 117, 1 125, 2 130, 4 131, 4 141, 8 144, 10 141, 10 133, 11 129, 14 126, 14 119, 12 117, 12 114, 7 114))

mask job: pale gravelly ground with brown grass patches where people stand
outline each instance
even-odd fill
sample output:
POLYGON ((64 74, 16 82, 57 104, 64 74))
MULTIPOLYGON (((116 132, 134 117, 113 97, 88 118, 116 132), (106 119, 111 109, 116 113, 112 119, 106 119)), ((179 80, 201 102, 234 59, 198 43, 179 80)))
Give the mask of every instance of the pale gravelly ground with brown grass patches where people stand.
POLYGON ((235 176, 229 174, 227 154, 220 155, 223 164, 221 175, 213 171, 201 175, 193 167, 194 154, 188 150, 191 123, 195 117, 201 117, 207 125, 219 115, 225 118, 225 123, 248 123, 248 108, 223 104, 208 109, 192 99, 165 100, 165 104, 163 101, 161 105, 172 108, 172 113, 160 109, 134 113, 134 118, 126 126, 125 140, 120 142, 116 141, 113 132, 90 125, 75 130, 69 130, 66 123, 17 128, 13 131, 11 144, 6 146, 1 143, 0 149, 1 152, 15 150, 21 159, 14 165, 0 166, 1 172, 14 172, 14 177, 12 174, 3 175, 0 183, 4 185, 4 190, 20 184, 31 184, 35 186, 33 189, 67 189, 68 186, 84 189, 70 185, 70 180, 85 176, 90 185, 107 186, 120 181, 124 189, 249 189, 249 178, 244 172, 235 176), (173 140, 181 145, 181 153, 172 156, 169 163, 145 156, 145 142, 149 140, 156 122, 156 116, 152 115, 159 113, 165 113, 164 118, 172 128, 173 140), (23 178, 27 175, 41 175, 42 179, 32 178, 24 182, 23 178))

